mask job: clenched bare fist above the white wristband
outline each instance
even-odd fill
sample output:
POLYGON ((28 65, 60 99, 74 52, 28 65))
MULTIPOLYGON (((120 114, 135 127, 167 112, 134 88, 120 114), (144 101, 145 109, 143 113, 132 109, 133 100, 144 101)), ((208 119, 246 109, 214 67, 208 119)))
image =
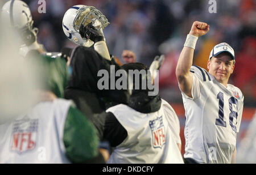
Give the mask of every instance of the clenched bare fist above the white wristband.
POLYGON ((210 29, 210 25, 208 25, 207 23, 196 21, 193 23, 189 34, 196 37, 200 37, 207 34, 209 29, 210 29))

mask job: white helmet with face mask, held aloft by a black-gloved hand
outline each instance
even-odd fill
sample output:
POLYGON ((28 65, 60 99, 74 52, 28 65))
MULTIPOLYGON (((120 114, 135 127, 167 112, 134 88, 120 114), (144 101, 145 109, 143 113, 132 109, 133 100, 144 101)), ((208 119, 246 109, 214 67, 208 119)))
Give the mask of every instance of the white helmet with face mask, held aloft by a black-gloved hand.
POLYGON ((62 28, 69 40, 77 45, 90 47, 94 42, 82 38, 79 29, 81 25, 92 25, 103 33, 103 29, 109 25, 108 19, 99 10, 92 6, 76 5, 69 8, 63 17, 62 28))

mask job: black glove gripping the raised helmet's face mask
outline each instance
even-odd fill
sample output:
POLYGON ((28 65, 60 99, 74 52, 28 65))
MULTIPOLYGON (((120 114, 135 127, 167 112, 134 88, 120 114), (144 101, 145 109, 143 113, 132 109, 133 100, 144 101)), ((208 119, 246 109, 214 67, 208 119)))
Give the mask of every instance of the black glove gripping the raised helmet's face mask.
POLYGON ((92 23, 86 25, 80 26, 79 33, 82 36, 82 38, 90 39, 94 43, 98 41, 104 41, 104 36, 100 31, 97 31, 97 29, 92 25, 92 23))

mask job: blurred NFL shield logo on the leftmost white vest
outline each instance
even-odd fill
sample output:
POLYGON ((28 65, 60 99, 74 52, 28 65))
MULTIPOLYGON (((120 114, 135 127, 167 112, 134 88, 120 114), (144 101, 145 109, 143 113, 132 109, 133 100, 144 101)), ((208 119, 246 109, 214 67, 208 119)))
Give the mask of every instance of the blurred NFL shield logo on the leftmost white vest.
POLYGON ((33 150, 36 144, 38 119, 21 119, 15 121, 11 138, 11 151, 22 153, 33 150))

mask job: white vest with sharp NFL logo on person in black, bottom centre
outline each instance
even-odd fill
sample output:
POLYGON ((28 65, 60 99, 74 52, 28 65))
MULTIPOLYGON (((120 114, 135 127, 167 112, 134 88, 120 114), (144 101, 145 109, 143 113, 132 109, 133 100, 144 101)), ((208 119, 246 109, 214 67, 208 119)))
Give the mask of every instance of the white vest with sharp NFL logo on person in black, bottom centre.
POLYGON ((106 110, 112 112, 127 131, 127 138, 115 147, 108 163, 184 163, 168 123, 168 118, 174 117, 170 114, 175 113, 171 110, 164 100, 157 112, 148 114, 123 104, 106 110))

